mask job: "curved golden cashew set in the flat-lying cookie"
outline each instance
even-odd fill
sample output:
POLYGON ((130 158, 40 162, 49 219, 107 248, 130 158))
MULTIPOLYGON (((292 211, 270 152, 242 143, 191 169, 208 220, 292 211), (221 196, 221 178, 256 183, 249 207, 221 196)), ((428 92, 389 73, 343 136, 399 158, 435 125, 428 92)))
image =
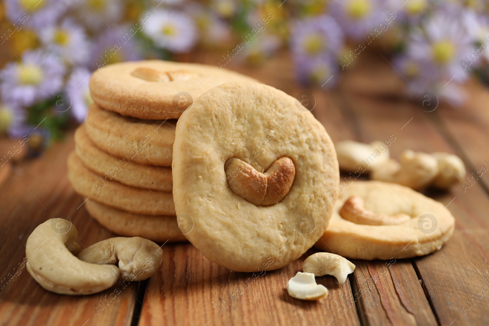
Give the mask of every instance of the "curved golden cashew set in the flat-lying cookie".
POLYGON ((368 211, 364 207, 363 198, 358 196, 348 198, 339 210, 339 215, 350 222, 365 225, 396 225, 411 219, 404 213, 385 215, 368 211))

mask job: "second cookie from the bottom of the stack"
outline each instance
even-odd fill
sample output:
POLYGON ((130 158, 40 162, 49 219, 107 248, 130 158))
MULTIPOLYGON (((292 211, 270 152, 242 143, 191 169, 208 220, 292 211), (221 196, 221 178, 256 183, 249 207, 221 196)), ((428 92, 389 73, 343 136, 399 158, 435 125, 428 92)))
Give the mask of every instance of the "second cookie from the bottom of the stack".
POLYGON ((68 179, 77 193, 107 206, 144 215, 175 215, 171 193, 126 186, 91 172, 76 152, 68 155, 68 179))

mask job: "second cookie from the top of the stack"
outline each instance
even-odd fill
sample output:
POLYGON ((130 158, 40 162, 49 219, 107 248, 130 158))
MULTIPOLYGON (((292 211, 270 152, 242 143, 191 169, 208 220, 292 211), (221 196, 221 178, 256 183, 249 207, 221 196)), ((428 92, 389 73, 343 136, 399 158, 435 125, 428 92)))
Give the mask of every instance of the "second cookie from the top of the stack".
POLYGON ((87 135, 100 150, 143 165, 172 166, 175 120, 141 120, 90 106, 87 135))

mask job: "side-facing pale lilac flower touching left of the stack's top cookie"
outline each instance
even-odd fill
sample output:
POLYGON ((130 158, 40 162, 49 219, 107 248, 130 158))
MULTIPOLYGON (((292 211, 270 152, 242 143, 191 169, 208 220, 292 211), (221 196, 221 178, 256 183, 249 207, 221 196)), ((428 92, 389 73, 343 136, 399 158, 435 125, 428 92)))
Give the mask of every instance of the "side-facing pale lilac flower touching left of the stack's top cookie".
POLYGON ((89 106, 93 103, 89 90, 90 74, 86 68, 75 68, 66 84, 67 102, 68 105, 71 105, 69 108, 73 116, 80 122, 85 120, 89 106))

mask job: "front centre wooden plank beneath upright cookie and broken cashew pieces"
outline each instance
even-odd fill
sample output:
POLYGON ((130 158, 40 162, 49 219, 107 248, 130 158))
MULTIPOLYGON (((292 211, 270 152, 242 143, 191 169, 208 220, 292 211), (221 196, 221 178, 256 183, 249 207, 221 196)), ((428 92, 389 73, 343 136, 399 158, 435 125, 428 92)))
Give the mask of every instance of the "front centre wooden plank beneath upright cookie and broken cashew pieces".
POLYGON ((302 262, 275 271, 233 272, 205 257, 191 244, 165 245, 163 268, 148 283, 139 325, 360 325, 352 290, 331 276, 316 278, 330 290, 318 302, 289 296, 286 284, 302 262))

